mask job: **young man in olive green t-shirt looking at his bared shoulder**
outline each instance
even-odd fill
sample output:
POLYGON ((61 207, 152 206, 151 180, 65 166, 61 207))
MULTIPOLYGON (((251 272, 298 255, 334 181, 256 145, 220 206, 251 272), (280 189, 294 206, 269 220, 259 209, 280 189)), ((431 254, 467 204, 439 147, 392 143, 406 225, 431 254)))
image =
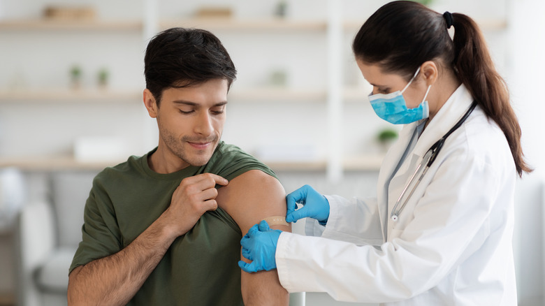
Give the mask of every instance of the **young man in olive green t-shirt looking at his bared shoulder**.
POLYGON ((285 216, 286 202, 272 170, 220 141, 235 76, 208 31, 150 41, 143 100, 159 145, 95 177, 70 305, 288 305, 276 272, 241 275, 237 265, 242 235, 285 216))

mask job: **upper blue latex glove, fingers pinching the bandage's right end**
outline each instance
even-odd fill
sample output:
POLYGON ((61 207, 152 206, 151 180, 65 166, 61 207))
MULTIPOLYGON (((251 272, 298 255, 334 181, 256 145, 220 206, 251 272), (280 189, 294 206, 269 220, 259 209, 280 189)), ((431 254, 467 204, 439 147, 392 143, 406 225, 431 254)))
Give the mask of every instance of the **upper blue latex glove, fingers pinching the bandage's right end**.
POLYGON ((288 211, 286 222, 296 222, 298 219, 310 217, 317 219, 319 224, 326 225, 329 218, 329 202, 325 196, 309 185, 305 185, 286 196, 288 211), (297 203, 303 207, 296 210, 297 203))

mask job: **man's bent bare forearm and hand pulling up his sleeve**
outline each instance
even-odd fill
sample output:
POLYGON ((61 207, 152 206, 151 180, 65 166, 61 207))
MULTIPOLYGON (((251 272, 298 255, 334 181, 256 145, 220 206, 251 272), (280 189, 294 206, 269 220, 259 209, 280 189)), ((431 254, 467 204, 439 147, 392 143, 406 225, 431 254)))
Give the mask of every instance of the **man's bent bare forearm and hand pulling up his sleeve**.
POLYGON ((105 258, 72 270, 68 278, 69 305, 125 305, 180 235, 201 215, 215 210, 217 175, 187 177, 174 191, 168 209, 130 245, 105 258))

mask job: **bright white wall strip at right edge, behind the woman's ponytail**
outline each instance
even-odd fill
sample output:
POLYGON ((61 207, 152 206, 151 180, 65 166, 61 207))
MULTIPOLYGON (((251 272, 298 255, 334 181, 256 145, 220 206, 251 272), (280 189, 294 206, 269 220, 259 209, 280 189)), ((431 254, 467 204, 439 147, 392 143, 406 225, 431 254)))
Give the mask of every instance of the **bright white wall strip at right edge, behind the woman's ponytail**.
POLYGON ((509 74, 505 75, 523 131, 525 156, 535 172, 518 184, 516 245, 521 305, 544 305, 543 177, 545 166, 545 2, 511 1, 509 74))

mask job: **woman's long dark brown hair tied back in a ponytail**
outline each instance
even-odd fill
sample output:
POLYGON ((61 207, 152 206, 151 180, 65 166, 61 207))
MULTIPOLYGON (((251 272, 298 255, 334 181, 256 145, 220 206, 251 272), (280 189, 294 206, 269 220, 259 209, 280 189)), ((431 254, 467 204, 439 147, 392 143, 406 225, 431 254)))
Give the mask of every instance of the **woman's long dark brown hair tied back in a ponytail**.
POLYGON ((438 60, 452 69, 486 116, 502 129, 518 175, 531 172, 524 161, 521 127, 509 101, 509 91, 495 70, 484 37, 466 15, 430 10, 414 1, 393 1, 379 8, 354 38, 356 59, 381 65, 384 72, 405 75, 407 81, 425 61, 438 60), (453 39, 447 28, 454 27, 453 39))

